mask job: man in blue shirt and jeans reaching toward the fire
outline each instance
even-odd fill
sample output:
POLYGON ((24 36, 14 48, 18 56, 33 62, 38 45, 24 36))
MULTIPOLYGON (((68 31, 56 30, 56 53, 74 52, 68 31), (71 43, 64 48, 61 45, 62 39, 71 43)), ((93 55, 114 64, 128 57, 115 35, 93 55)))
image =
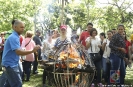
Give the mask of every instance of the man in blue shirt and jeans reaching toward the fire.
POLYGON ((23 33, 24 28, 24 23, 22 21, 16 20, 13 28, 14 31, 5 42, 2 66, 4 68, 3 72, 7 80, 4 87, 22 87, 22 81, 18 67, 18 62, 20 59, 19 55, 27 55, 40 49, 40 46, 35 46, 31 51, 21 50, 19 36, 23 33))

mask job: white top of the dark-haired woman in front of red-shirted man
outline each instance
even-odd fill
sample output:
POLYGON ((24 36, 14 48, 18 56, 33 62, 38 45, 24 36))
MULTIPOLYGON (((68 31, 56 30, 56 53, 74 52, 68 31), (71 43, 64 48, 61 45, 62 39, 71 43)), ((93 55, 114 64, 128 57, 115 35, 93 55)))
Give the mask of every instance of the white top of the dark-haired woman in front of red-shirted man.
MULTIPOLYGON (((85 42, 89 41, 90 37, 85 40, 85 42)), ((88 53, 98 53, 100 51, 98 45, 101 45, 101 42, 97 37, 95 37, 95 39, 91 39, 91 46, 88 48, 88 53)))

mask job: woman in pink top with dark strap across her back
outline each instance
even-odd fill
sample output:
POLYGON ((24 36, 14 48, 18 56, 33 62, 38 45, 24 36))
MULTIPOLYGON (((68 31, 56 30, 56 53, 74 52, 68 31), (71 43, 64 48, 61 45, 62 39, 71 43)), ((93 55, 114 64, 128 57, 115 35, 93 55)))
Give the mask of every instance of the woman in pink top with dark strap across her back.
MULTIPOLYGON (((22 48, 25 50, 33 50, 35 47, 35 42, 32 40, 33 33, 31 31, 27 31, 25 35, 25 39, 22 41, 22 48)), ((31 72, 31 63, 34 61, 34 53, 26 55, 26 58, 23 59, 23 74, 22 80, 24 81, 25 74, 26 74, 26 81, 30 79, 30 72, 31 72)))

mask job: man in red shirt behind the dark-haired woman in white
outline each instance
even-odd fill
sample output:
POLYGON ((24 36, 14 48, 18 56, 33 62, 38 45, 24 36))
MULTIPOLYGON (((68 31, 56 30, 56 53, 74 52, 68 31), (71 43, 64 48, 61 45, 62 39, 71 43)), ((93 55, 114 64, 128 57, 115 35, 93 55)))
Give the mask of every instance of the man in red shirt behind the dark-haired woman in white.
POLYGON ((87 24, 87 31, 83 31, 82 34, 80 35, 79 42, 82 43, 83 46, 86 47, 86 38, 90 36, 90 31, 93 28, 92 23, 87 24))

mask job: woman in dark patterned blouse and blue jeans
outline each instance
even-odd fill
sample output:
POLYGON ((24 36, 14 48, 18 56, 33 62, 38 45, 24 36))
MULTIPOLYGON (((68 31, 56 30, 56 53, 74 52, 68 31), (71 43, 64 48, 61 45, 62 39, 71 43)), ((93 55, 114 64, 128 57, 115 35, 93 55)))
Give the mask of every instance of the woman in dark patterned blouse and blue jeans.
POLYGON ((123 38, 123 33, 125 31, 124 25, 117 26, 118 32, 112 36, 109 47, 111 48, 110 62, 111 62, 111 76, 110 83, 113 84, 113 75, 117 75, 119 78, 117 84, 124 85, 125 78, 125 54, 126 54, 126 44, 123 38), (119 75, 120 72, 120 75, 119 75))

